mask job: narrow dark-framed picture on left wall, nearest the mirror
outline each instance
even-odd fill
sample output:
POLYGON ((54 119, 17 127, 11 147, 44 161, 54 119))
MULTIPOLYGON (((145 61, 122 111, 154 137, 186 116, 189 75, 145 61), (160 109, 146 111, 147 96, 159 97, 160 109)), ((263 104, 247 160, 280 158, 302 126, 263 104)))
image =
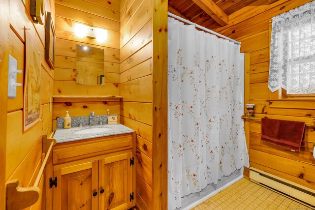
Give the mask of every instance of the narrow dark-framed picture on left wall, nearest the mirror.
POLYGON ((47 12, 45 33, 45 60, 52 69, 54 69, 55 63, 55 40, 56 34, 54 30, 53 20, 51 18, 51 13, 47 12))

